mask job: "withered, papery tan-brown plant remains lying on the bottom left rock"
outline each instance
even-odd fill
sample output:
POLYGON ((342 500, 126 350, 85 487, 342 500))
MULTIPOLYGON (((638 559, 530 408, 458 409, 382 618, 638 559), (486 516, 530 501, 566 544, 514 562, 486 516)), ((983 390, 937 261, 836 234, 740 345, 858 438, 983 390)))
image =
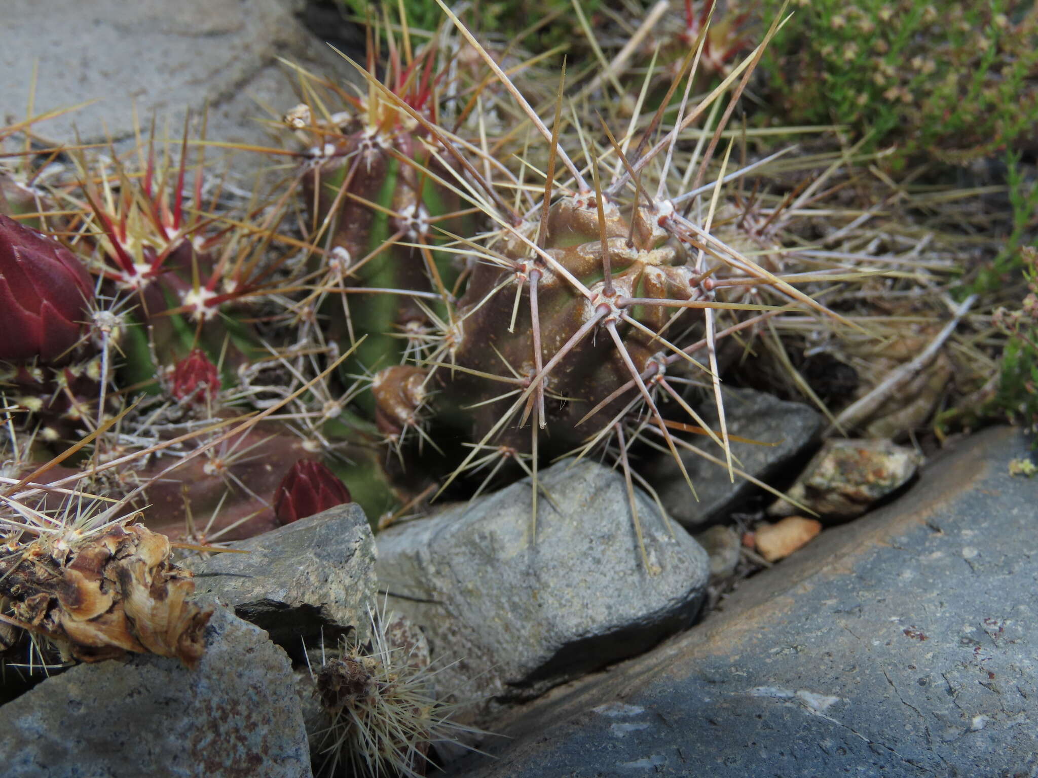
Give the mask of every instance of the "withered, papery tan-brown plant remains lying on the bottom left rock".
POLYGON ((187 602, 194 581, 169 552, 165 535, 139 525, 71 546, 37 540, 0 560, 0 596, 18 626, 74 659, 149 652, 194 667, 213 610, 187 602))

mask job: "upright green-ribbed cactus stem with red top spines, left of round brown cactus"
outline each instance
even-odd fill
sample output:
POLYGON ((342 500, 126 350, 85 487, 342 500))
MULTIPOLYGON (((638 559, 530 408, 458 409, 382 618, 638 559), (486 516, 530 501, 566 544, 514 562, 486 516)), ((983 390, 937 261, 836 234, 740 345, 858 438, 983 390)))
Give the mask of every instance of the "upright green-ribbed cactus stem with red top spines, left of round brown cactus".
MULTIPOLYGON (((370 49, 368 70, 377 54, 370 49)), ((408 48, 404 56, 409 54, 408 48)), ((324 259, 311 262, 311 270, 322 275, 320 297, 340 298, 324 306, 333 316, 330 331, 351 344, 360 333, 371 334, 349 365, 365 372, 397 361, 408 350, 407 338, 420 336, 429 313, 415 296, 448 297, 454 273, 448 257, 432 250, 433 225, 456 230, 463 223, 453 191, 456 164, 402 110, 406 106, 436 120, 439 53, 432 46, 409 61, 401 56, 390 48, 385 85, 371 86, 366 98, 313 79, 313 105, 300 104, 284 116, 309 147, 301 174, 306 231, 322 249, 313 259, 324 259), (321 86, 325 100, 316 96, 321 86), (332 100, 345 110, 322 116, 319 106, 332 100), (351 306, 346 293, 357 287, 412 295, 373 293, 362 305, 351 306)))

